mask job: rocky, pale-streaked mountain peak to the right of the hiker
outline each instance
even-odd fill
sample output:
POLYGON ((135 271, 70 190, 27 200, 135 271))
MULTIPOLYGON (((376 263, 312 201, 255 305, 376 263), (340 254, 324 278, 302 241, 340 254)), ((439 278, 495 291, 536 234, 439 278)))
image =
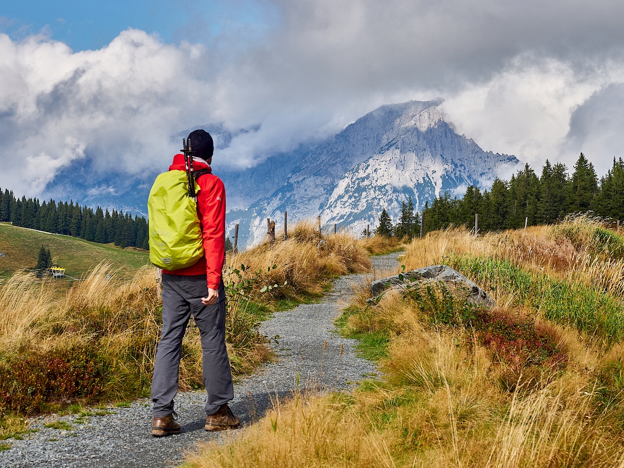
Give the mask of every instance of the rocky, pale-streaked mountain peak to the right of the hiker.
POLYGON ((367 224, 374 227, 384 208, 396 222, 410 196, 420 210, 446 191, 489 188, 501 168, 520 163, 457 135, 439 104, 409 101, 364 115, 312 147, 270 196, 231 210, 228 232, 239 223, 240 238, 251 245, 264 236, 267 217, 280 228, 287 211, 290 220, 320 215, 328 227, 336 223, 359 233, 367 224))

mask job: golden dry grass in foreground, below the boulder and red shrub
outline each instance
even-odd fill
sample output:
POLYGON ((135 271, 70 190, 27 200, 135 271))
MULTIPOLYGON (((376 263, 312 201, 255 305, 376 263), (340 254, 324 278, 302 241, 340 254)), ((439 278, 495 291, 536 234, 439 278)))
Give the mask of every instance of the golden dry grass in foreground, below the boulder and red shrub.
POLYGON ((352 396, 276 402, 258 424, 203 445, 185 467, 624 466, 620 431, 612 412, 596 406, 584 363, 510 393, 488 351, 462 345, 470 331, 432 329, 397 295, 384 297, 378 315, 394 322, 384 381, 352 396))

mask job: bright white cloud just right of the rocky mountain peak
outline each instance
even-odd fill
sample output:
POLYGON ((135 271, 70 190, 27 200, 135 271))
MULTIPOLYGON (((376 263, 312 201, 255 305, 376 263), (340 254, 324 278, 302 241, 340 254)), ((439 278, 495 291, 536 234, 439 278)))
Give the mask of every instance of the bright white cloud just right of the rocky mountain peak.
MULTIPOLYGON (((572 148, 565 144, 580 131, 570 127, 573 113, 589 112, 584 103, 590 96, 605 84, 620 80, 624 80, 622 64, 578 74, 567 62, 526 54, 487 82, 469 84, 452 94, 442 109, 456 122, 459 133, 486 149, 514 154, 534 168, 540 168, 547 158, 571 167, 582 150, 580 145, 572 148)), ((620 104, 607 100, 602 108, 611 114, 620 104), (607 111, 609 107, 613 109, 607 111)), ((593 127, 591 131, 600 133, 602 129, 593 127)))

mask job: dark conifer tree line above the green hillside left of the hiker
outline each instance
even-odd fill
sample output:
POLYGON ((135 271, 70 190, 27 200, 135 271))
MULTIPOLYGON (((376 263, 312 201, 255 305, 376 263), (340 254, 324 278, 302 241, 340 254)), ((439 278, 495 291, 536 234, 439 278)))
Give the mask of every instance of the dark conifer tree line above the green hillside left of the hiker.
POLYGON ((0 222, 122 248, 149 248, 147 220, 143 217, 132 218, 122 210, 80 207, 73 201, 39 203, 37 198, 16 198, 12 191, 5 189, 3 193, 1 188, 0 222))

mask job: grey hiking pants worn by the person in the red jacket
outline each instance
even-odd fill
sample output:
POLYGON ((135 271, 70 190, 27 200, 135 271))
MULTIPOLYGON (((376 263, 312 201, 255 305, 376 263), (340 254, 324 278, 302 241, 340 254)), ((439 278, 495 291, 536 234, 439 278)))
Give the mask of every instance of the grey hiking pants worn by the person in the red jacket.
POLYGON ((182 338, 191 314, 202 337, 203 384, 208 392, 206 414, 215 414, 234 397, 230 359, 225 348, 225 291, 219 286, 216 304, 205 306, 206 276, 162 275, 162 336, 156 351, 152 401, 154 417, 173 413, 178 392, 182 338))

